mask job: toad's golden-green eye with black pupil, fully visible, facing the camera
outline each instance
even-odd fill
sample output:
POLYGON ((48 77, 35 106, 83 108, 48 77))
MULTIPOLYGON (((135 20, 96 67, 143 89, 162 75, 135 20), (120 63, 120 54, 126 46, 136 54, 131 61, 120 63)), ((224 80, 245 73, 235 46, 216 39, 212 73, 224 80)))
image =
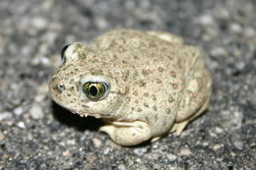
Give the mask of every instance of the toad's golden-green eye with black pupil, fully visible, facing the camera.
POLYGON ((108 85, 101 82, 87 82, 83 85, 83 92, 91 100, 99 100, 106 96, 108 85))

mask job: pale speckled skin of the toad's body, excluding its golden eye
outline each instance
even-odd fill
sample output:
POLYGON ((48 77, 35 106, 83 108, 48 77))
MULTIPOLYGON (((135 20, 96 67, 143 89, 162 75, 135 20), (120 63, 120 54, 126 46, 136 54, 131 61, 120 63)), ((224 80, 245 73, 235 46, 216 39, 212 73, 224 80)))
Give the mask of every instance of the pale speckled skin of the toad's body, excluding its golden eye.
POLYGON ((112 30, 90 44, 64 51, 66 62, 49 82, 53 100, 80 116, 102 118, 99 131, 120 145, 134 145, 176 131, 209 105, 212 79, 200 48, 160 31, 112 30), (86 81, 109 90, 90 100, 86 81))

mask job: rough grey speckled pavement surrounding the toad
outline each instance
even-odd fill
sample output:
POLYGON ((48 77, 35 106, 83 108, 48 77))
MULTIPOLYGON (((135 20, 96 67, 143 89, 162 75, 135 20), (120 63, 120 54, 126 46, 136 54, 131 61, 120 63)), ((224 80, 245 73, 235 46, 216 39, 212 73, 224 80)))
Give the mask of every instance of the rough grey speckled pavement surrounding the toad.
POLYGON ((255 0, 1 0, 0 14, 0 169, 256 169, 255 0), (211 105, 180 137, 120 147, 51 101, 61 47, 112 28, 170 31, 208 53, 211 105))

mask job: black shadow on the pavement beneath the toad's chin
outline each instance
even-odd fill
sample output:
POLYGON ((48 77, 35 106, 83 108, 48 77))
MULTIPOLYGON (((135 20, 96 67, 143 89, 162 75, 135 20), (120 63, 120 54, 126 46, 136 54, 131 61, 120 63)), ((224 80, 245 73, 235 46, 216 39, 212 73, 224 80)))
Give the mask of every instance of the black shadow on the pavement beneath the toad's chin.
POLYGON ((79 115, 73 114, 70 111, 56 104, 54 101, 51 102, 53 116, 60 123, 73 127, 78 131, 97 131, 97 129, 103 125, 100 119, 94 117, 80 117, 79 115))

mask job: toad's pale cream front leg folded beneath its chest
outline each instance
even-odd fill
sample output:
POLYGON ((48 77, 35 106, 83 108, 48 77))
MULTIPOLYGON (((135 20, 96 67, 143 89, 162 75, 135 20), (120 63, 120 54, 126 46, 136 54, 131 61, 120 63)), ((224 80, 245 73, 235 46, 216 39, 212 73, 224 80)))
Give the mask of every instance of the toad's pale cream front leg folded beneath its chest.
POLYGON ((112 122, 102 126, 99 131, 108 134, 113 142, 120 145, 135 145, 152 138, 150 126, 141 121, 112 122))

